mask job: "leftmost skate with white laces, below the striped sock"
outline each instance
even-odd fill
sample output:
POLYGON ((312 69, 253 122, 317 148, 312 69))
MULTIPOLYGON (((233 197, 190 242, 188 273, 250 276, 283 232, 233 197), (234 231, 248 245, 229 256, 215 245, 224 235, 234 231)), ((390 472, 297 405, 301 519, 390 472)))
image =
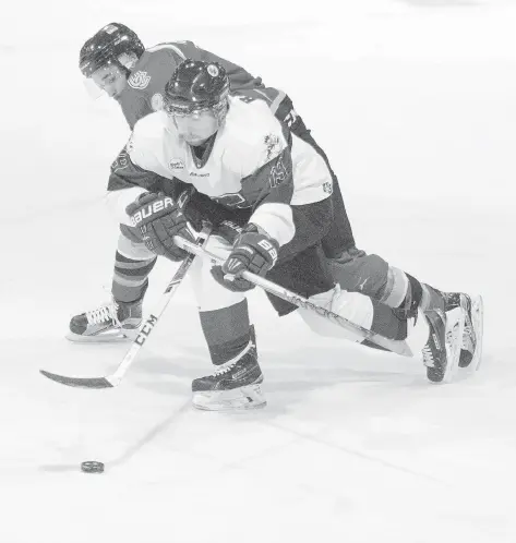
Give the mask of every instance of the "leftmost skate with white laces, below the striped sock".
POLYGON ((79 342, 127 341, 137 336, 142 324, 142 302, 116 302, 75 315, 67 339, 79 342))

